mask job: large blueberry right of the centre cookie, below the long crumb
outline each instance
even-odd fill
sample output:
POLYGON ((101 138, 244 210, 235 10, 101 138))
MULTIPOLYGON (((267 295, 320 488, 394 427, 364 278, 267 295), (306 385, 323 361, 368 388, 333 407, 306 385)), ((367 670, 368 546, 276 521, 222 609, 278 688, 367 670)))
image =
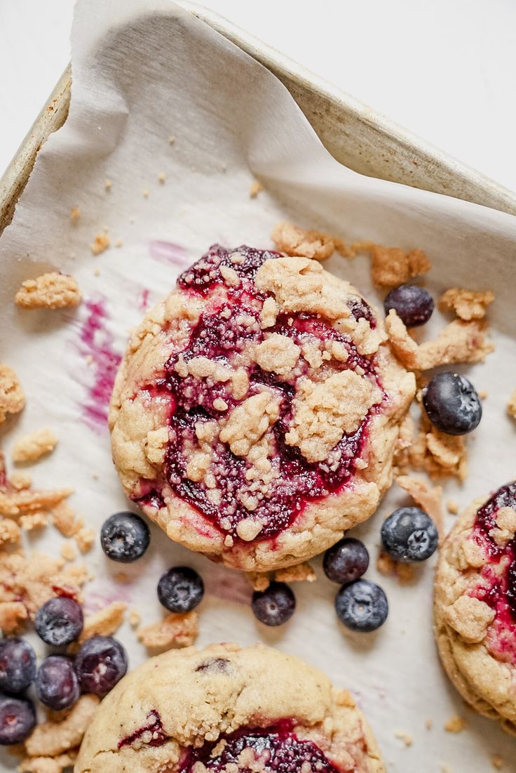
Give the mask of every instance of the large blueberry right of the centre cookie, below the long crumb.
POLYGON ((426 415, 441 432, 467 434, 482 418, 482 404, 473 384, 459 373, 437 373, 423 389, 426 415))

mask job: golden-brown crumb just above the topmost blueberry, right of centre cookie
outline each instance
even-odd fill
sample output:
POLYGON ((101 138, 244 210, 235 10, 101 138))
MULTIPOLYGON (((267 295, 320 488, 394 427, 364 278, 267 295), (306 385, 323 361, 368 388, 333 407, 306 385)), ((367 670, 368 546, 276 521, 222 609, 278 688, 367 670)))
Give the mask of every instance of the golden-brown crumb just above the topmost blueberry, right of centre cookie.
POLYGON ((431 264, 423 250, 404 252, 399 247, 382 247, 372 242, 355 242, 351 254, 368 253, 371 258, 372 281, 380 288, 394 288, 420 274, 426 274, 431 264))

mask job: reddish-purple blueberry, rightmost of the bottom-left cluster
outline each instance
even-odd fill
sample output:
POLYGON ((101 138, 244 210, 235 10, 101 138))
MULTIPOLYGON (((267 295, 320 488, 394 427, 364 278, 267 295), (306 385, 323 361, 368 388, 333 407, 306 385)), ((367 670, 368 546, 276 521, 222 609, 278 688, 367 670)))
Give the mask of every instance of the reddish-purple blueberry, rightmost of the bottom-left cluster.
POLYGON ((93 636, 77 652, 75 670, 83 693, 102 698, 126 673, 127 653, 116 638, 93 636))

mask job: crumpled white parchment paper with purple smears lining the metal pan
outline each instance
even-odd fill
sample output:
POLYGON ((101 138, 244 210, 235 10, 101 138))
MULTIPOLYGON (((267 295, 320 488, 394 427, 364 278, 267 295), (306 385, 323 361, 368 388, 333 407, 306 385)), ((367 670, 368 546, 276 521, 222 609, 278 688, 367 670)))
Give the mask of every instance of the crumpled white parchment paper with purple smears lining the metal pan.
MULTIPOLYGON (((514 477, 516 436, 505 413, 516 386, 513 217, 345 169, 278 80, 166 0, 80 0, 72 55, 70 116, 42 148, 0 240, 2 361, 19 373, 28 397, 22 415, 4 425, 3 447, 8 451, 19 434, 42 425, 59 434, 54 454, 32 468, 36 485, 72 484, 73 505, 96 530, 111 512, 127 508, 104 418, 129 329, 210 243, 271 247, 269 234, 280 218, 324 226, 349 241, 422 247, 433 261, 426 286, 434 295, 450 286, 494 289, 496 351, 470 369, 477 388, 488 392, 484 419, 469 443, 468 481, 462 488, 447 484, 446 495, 465 505, 514 477), (265 189, 250 199, 254 179, 265 189), (76 223, 73 206, 81 211, 76 223), (93 257, 89 245, 104 228, 112 246, 93 257), (21 281, 56 268, 79 281, 85 298, 79 308, 15 308, 21 281)), ((333 257, 325 265, 381 300, 367 259, 333 257)), ((427 335, 442 324, 436 314, 427 335)), ((405 587, 376 576, 379 524, 405 501, 393 487, 377 514, 354 530, 372 555, 367 576, 382 584, 391 607, 385 626, 372 635, 351 635, 338 624, 337 587, 318 560, 317 583, 294 586, 292 621, 268 630, 254 620, 250 587, 238 572, 175 546, 155 527, 151 549, 136 564, 113 564, 97 547, 90 553, 96 577, 88 604, 94 609, 120 599, 138 608, 144 623, 158 620, 161 571, 191 564, 207 587, 198 643, 261 639, 320 666, 355 694, 392 770, 440 771, 447 764, 452 771, 487 771, 493 754, 504 758, 504 769, 516 770, 514 739, 467 710, 440 669, 431 635, 431 562, 405 587), (123 583, 116 578, 121 570, 128 577, 123 583), (458 735, 443 730, 454 713, 468 722, 458 735), (412 746, 395 733, 410 734, 412 746)), ((30 543, 57 554, 61 540, 49 528, 30 543)), ((120 636, 136 666, 144 650, 128 626, 120 636)), ((11 758, 0 760, 13 767, 11 758)))

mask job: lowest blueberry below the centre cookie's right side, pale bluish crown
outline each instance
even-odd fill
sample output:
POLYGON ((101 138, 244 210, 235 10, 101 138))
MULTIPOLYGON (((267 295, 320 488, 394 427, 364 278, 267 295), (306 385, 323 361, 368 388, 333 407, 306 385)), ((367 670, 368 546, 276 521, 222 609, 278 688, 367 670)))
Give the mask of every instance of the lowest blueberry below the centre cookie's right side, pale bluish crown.
POLYGON ((389 615, 385 593, 368 580, 343 585, 335 596, 335 609, 344 625, 361 633, 375 631, 389 615))

